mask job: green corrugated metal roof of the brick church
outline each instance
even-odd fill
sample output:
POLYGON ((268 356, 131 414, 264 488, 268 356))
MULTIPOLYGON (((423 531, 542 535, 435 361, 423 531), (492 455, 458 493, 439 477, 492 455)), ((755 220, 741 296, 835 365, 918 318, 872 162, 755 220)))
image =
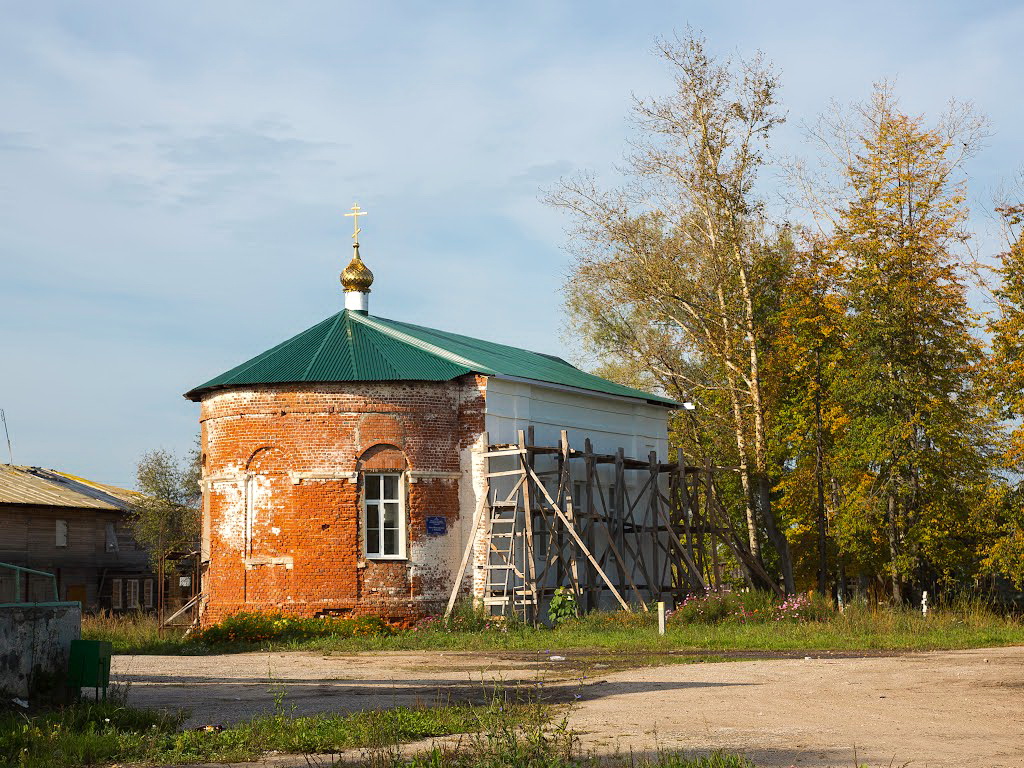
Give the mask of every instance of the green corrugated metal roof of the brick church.
POLYGON ((185 393, 250 384, 335 381, 450 381, 507 376, 656 402, 668 397, 615 384, 560 357, 347 309, 185 393))

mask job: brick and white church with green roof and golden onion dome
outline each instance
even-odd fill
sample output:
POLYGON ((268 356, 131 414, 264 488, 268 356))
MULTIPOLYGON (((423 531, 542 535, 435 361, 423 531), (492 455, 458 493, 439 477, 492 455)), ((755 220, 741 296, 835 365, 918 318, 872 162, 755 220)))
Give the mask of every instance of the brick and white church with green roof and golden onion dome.
MULTIPOLYGON (((476 535, 488 444, 519 430, 668 454, 674 400, 372 314, 358 232, 344 309, 185 394, 202 407, 204 625, 243 610, 436 613, 476 535)), ((485 559, 465 594, 481 594, 485 559)))

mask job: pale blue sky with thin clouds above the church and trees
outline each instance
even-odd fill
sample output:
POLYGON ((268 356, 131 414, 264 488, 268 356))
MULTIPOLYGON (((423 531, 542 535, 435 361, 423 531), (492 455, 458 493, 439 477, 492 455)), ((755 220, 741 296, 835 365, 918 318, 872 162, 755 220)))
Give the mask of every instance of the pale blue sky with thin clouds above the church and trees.
POLYGON ((0 11, 0 408, 16 463, 118 484, 143 451, 188 447, 182 392, 341 307, 353 201, 372 312, 572 357, 566 221, 540 190, 614 178, 631 94, 670 85, 654 38, 687 24, 781 72, 781 154, 813 153, 801 123, 829 99, 898 78, 911 112, 956 96, 990 117, 980 228, 1024 162, 1018 3, 0 11))

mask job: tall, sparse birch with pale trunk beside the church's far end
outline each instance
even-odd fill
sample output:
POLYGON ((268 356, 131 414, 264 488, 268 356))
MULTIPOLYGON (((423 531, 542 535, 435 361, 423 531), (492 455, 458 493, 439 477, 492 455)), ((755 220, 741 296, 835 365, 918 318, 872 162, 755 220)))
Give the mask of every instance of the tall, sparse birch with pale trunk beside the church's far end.
POLYGON ((706 423, 731 425, 751 551, 761 554, 763 530, 793 592, 788 541, 771 506, 763 384, 763 301, 773 294, 759 290, 783 247, 757 195, 783 121, 778 78, 760 56, 715 58, 692 32, 659 42, 658 53, 675 90, 635 99, 640 137, 622 169, 626 184, 607 189, 581 176, 549 195, 575 224, 567 304, 599 357, 631 361, 696 402, 706 423))

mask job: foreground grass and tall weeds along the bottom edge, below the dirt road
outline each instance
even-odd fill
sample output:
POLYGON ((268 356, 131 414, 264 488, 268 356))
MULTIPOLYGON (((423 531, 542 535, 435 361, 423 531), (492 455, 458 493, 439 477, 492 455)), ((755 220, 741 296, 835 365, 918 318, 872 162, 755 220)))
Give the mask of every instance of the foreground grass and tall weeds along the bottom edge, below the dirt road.
MULTIPOLYGON (((488 707, 396 708, 352 715, 295 717, 283 711, 222 731, 181 730, 183 715, 137 710, 115 701, 82 702, 22 716, 0 715, 0 766, 77 768, 131 763, 158 766, 257 760, 269 752, 316 756, 366 751, 373 768, 755 768, 742 757, 712 753, 651 758, 583 754, 565 709, 537 700, 488 707), (556 719, 556 716, 560 719, 556 719), (401 743, 465 734, 416 754, 401 743)), ((327 758, 330 759, 330 758, 327 758)))

